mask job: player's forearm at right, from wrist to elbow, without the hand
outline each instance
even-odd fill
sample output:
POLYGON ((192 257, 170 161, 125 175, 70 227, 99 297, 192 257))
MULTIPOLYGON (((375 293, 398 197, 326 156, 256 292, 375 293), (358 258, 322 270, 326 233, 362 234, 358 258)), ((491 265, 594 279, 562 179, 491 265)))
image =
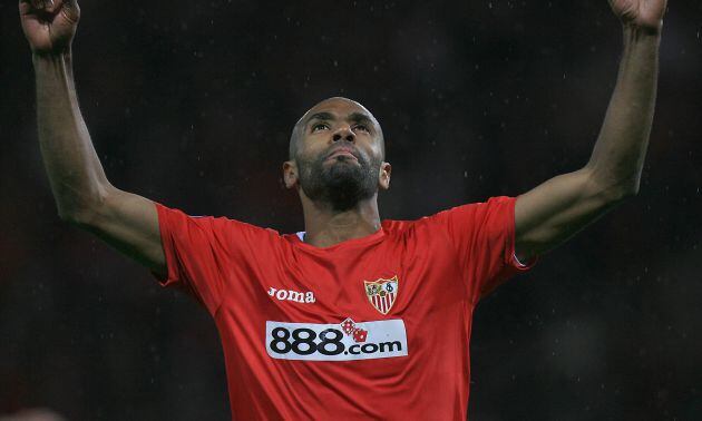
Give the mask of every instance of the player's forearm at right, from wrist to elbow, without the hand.
POLYGON ((605 188, 638 190, 659 76, 660 33, 624 27, 624 53, 616 87, 587 164, 605 188))

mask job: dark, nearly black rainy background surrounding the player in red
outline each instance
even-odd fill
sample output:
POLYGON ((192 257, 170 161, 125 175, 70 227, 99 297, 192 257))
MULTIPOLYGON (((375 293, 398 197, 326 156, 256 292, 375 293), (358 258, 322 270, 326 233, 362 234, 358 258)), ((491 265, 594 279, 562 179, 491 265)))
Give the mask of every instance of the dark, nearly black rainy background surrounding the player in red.
MULTIPOLYGON (((110 180, 191 214, 302 229, 281 182, 316 101, 361 101, 383 218, 518 195, 589 157, 621 55, 606 1, 82 1, 81 108, 110 180)), ((475 314, 469 414, 702 417, 702 6, 671 0, 641 193, 475 314)), ((0 413, 225 420, 214 323, 61 223, 31 57, 0 3, 0 413)))

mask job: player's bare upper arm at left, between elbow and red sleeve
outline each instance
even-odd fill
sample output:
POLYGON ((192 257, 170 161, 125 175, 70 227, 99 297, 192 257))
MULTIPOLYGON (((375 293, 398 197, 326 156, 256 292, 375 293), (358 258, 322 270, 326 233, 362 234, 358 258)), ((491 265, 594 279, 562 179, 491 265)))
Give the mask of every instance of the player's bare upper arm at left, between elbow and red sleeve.
POLYGON ((111 187, 79 225, 159 275, 166 273, 154 202, 111 187))

